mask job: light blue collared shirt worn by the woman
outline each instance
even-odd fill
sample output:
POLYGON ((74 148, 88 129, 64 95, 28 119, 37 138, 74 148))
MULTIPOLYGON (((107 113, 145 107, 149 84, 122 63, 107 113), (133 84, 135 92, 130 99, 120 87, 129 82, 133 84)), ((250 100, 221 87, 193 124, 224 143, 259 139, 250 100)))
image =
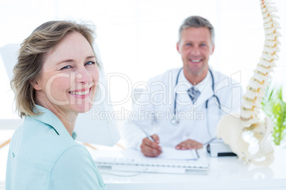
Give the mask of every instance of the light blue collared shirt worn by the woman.
POLYGON ((28 116, 9 147, 6 189, 106 189, 90 153, 48 109, 28 116))

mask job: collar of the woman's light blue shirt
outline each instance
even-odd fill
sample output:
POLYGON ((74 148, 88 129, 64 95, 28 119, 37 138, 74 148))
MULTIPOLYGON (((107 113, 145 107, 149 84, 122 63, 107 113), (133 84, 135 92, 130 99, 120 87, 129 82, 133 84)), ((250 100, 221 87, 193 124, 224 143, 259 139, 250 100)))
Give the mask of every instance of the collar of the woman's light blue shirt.
POLYGON ((37 115, 37 116, 30 116, 30 117, 38 121, 41 121, 42 123, 46 123, 47 125, 50 125, 55 130, 55 132, 58 133, 58 135, 67 136, 67 137, 73 138, 73 140, 77 138, 78 136, 77 133, 73 131, 72 136, 70 136, 70 133, 68 133, 68 130, 65 128, 65 126, 60 121, 60 119, 57 116, 55 116, 55 114, 53 114, 51 111, 49 111, 47 108, 36 105, 35 112, 38 112, 38 111, 40 111, 42 114, 37 115))

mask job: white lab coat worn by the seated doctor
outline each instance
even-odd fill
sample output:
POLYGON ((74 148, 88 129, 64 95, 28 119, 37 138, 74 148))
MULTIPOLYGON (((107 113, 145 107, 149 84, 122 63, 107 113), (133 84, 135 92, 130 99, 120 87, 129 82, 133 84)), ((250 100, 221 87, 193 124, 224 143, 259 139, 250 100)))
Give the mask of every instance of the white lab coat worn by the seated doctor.
POLYGON ((197 84, 201 94, 193 104, 186 94, 192 84, 186 80, 183 71, 179 74, 179 70, 180 68, 170 69, 149 80, 149 87, 137 99, 144 105, 135 103, 129 120, 123 125, 122 137, 127 147, 140 150, 142 139, 146 138, 142 130, 149 135, 154 133, 159 135, 162 147, 175 147, 187 139, 204 144, 216 138, 216 128, 221 116, 240 112, 243 90, 238 82, 211 69, 214 92, 221 103, 221 109, 213 97, 210 72, 202 82, 197 84), (176 84, 178 74, 179 80, 176 84), (176 116, 180 118, 177 125, 171 123, 175 93, 177 93, 176 116), (206 100, 208 100, 208 108, 206 108, 206 100))

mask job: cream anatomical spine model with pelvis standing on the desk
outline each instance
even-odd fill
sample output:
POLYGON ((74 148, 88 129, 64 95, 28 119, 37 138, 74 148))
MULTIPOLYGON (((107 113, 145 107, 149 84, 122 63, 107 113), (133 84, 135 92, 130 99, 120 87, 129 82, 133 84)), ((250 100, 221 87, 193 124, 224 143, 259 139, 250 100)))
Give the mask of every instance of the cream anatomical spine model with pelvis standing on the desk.
POLYGON ((275 67, 275 60, 278 59, 277 52, 280 51, 278 37, 280 37, 280 33, 277 29, 280 26, 275 21, 277 16, 273 14, 277 11, 273 6, 274 3, 268 0, 259 1, 265 30, 263 54, 243 96, 241 115, 234 113, 233 116, 223 117, 218 123, 218 138, 222 138, 224 143, 228 144, 231 150, 238 155, 238 158, 245 162, 268 166, 274 160, 274 150, 268 141, 273 130, 273 123, 268 117, 265 118, 264 123, 261 123, 258 113, 260 113, 265 88, 269 86, 270 72, 272 72, 272 67, 275 67), (249 143, 242 138, 245 131, 252 132, 258 140, 259 150, 254 155, 251 155, 248 150, 249 143))

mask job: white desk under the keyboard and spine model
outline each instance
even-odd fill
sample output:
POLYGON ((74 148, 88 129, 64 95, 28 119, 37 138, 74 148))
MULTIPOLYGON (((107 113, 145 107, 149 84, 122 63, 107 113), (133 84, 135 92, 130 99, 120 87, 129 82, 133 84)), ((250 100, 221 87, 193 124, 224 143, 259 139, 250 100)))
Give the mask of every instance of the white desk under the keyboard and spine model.
MULTIPOLYGON (((0 130, 0 133, 4 135, 4 131, 0 130)), ((8 138, 12 133, 7 131, 5 137, 8 138)), ((5 139, 2 139, 0 143, 5 139)), ((4 189, 8 149, 9 145, 0 149, 0 189, 4 189)), ((102 150, 91 150, 89 148, 88 150, 92 154, 102 152, 102 150)), ((119 150, 110 151, 116 154, 116 151, 119 150)), ((235 157, 211 158, 204 149, 198 152, 201 157, 210 160, 208 175, 142 173, 134 177, 117 177, 105 174, 105 172, 125 175, 135 174, 135 172, 114 172, 108 169, 100 170, 100 172, 102 172, 102 178, 107 184, 108 190, 286 189, 285 148, 275 147, 275 162, 270 167, 253 167, 243 164, 241 160, 237 160, 235 157)))

